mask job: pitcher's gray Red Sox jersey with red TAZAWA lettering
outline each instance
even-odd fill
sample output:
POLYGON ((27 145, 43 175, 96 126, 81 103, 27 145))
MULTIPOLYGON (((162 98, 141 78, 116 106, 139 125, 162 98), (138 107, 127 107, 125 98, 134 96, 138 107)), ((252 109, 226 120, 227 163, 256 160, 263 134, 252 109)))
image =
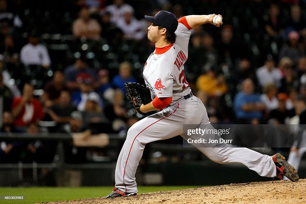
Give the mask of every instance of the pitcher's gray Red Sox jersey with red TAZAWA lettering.
POLYGON ((174 105, 191 92, 184 73, 190 31, 179 23, 175 34, 175 43, 156 48, 148 57, 143 71, 144 81, 151 90, 152 99, 156 96, 172 97, 170 105, 174 105))

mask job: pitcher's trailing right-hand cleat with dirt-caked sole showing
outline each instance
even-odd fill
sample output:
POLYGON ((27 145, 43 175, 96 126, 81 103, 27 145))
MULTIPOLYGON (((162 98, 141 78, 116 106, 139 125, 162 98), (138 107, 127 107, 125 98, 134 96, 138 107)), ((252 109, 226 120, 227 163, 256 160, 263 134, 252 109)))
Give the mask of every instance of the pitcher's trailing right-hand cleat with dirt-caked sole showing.
POLYGON ((286 176, 289 180, 293 182, 299 181, 299 175, 294 166, 290 165, 282 154, 276 153, 272 156, 272 159, 276 166, 276 176, 282 180, 286 176))

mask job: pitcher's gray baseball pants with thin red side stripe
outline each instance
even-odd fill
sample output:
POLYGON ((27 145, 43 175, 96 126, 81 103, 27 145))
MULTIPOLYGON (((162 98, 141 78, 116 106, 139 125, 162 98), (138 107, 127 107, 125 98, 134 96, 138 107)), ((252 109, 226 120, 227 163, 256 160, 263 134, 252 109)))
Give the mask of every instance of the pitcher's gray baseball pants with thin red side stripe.
MULTIPOLYGON (((182 98, 174 106, 148 116, 129 128, 125 143, 119 154, 115 172, 115 187, 125 192, 136 192, 135 173, 147 143, 181 135, 183 124, 209 124, 205 106, 199 98, 182 98)), ((204 145, 204 144, 203 144, 204 145)), ((204 145, 205 146, 205 145, 204 145)), ((271 156, 243 147, 197 147, 209 159, 217 163, 241 163, 260 176, 276 176, 276 167, 271 156)))

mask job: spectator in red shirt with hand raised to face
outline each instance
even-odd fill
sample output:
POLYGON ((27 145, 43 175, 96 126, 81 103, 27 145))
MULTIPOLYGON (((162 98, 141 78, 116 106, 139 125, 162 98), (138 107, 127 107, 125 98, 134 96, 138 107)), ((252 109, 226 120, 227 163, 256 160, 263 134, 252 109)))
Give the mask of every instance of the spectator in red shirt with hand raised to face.
POLYGON ((14 125, 25 127, 29 123, 37 123, 44 117, 41 103, 33 97, 34 87, 26 83, 23 88, 23 95, 15 97, 12 102, 12 113, 14 125))

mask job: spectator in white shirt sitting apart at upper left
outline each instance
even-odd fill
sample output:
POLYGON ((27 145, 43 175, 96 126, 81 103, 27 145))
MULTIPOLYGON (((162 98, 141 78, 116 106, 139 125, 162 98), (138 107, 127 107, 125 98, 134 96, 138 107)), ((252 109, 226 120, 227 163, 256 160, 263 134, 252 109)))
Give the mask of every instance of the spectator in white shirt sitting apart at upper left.
POLYGON ((20 61, 24 65, 40 65, 45 68, 51 64, 47 48, 39 43, 40 35, 32 31, 29 43, 24 45, 20 51, 20 61))

